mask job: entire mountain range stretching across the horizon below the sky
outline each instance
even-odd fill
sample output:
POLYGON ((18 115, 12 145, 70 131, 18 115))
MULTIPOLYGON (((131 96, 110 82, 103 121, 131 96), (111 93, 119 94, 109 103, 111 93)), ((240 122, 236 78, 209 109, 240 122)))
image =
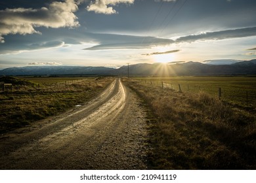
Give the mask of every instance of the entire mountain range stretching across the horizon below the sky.
MULTIPOLYGON (((219 60, 218 60, 219 61, 219 60)), ((217 62, 218 62, 217 61, 217 62)), ((230 61, 230 60, 229 60, 230 61)), ((205 61, 214 63, 215 61, 205 61)), ((215 62, 215 63, 217 63, 215 62)), ((197 75, 256 75, 256 59, 230 61, 229 65, 213 65, 194 61, 175 64, 139 63, 129 65, 129 75, 141 76, 197 76, 197 75)), ((1 75, 127 75, 128 66, 119 69, 79 66, 27 66, 0 70, 1 75)))

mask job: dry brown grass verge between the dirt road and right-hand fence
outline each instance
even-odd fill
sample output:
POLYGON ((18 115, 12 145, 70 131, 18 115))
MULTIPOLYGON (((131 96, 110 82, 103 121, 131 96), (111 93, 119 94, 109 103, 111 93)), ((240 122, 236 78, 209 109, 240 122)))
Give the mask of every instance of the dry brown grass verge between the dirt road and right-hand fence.
POLYGON ((147 105, 149 169, 255 169, 253 112, 205 92, 177 92, 125 80, 147 105))

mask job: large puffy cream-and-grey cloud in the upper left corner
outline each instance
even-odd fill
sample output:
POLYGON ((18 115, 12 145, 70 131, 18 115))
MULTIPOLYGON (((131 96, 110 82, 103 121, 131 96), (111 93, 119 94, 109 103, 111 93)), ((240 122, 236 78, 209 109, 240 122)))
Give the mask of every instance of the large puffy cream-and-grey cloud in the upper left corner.
POLYGON ((77 9, 74 0, 66 0, 53 1, 48 8, 0 10, 0 41, 4 42, 2 35, 40 33, 35 27, 77 27, 79 22, 74 14, 77 9))

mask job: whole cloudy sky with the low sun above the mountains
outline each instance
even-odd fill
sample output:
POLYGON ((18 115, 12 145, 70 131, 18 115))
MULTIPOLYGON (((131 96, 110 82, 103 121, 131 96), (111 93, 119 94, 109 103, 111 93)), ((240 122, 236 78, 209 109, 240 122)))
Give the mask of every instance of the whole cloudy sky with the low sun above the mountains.
POLYGON ((256 58, 255 0, 1 0, 0 69, 256 58))

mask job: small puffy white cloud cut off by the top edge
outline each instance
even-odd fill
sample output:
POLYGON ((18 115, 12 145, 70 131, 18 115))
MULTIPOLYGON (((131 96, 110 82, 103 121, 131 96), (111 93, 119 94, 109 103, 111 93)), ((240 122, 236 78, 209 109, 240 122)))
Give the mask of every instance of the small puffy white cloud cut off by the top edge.
POLYGON ((116 10, 112 6, 120 3, 133 4, 135 0, 95 0, 87 6, 88 11, 94 11, 99 14, 116 14, 116 10))

